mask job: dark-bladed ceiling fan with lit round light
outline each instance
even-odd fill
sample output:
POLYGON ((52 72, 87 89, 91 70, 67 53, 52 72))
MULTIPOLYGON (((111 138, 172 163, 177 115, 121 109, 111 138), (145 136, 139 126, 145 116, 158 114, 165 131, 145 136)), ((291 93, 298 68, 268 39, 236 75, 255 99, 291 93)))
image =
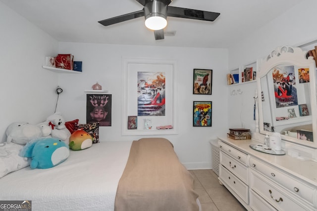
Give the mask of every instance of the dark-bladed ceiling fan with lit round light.
POLYGON ((136 0, 144 6, 142 10, 98 21, 104 26, 120 23, 138 17, 145 17, 147 28, 154 30, 155 40, 164 39, 163 28, 167 25, 167 16, 214 21, 220 13, 196 9, 168 6, 172 0, 136 0))

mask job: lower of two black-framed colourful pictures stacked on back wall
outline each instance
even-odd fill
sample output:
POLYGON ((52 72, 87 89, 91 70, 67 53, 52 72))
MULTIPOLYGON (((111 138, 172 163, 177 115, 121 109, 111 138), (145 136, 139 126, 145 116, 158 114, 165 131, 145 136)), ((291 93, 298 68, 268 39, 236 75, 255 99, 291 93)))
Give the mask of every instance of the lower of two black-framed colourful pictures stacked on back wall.
POLYGON ((193 126, 211 127, 211 101, 194 101, 193 103, 193 126))

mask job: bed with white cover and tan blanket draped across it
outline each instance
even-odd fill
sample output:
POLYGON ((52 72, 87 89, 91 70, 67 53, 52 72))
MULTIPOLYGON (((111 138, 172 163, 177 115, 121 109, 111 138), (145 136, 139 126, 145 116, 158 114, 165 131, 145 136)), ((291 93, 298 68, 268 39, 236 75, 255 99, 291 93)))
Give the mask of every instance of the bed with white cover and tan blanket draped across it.
POLYGON ((201 210, 192 175, 164 138, 70 151, 51 169, 26 167, 3 176, 0 190, 0 200, 29 200, 33 211, 201 210))

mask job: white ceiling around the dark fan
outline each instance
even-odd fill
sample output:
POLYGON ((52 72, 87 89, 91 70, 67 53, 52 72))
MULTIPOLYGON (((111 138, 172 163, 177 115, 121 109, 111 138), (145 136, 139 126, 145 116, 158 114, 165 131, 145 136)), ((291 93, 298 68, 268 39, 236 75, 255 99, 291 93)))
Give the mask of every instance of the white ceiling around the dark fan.
POLYGON ((0 0, 61 42, 229 47, 303 0, 174 0, 169 5, 219 12, 213 22, 168 17, 156 41, 144 17, 111 26, 98 21, 141 10, 136 0, 0 0))

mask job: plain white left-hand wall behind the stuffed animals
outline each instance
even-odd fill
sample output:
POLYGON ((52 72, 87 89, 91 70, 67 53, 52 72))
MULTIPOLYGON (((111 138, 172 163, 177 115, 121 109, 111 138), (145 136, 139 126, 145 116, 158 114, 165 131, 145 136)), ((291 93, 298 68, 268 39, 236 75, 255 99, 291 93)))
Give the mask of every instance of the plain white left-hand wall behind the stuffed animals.
POLYGON ((57 75, 44 70, 58 42, 0 2, 0 142, 12 122, 37 124, 53 113, 57 75))

